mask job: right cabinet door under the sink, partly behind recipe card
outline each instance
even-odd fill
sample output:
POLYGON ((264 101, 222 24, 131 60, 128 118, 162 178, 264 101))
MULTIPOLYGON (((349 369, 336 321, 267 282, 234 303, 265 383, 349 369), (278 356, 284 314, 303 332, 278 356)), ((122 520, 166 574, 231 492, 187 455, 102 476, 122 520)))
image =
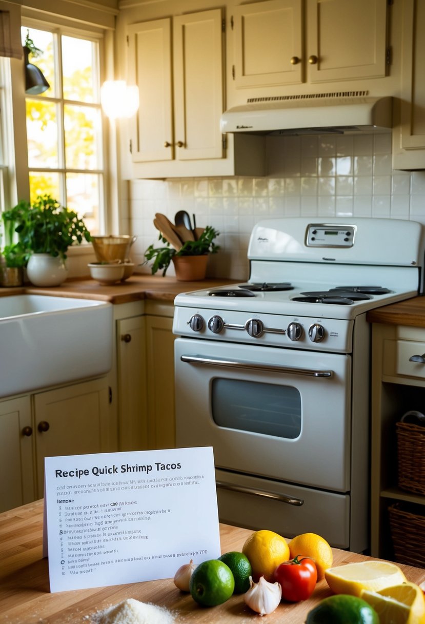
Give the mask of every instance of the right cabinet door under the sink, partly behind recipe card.
POLYGON ((106 379, 34 394, 38 495, 44 491, 44 457, 110 451, 106 379))

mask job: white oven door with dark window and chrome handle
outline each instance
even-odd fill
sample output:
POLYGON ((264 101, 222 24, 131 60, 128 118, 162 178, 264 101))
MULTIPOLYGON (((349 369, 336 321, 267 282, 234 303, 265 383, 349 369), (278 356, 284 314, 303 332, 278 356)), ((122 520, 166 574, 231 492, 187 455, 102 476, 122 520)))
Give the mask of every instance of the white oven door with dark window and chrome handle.
POLYGON ((178 338, 176 442, 217 468, 350 490, 351 358, 178 338))

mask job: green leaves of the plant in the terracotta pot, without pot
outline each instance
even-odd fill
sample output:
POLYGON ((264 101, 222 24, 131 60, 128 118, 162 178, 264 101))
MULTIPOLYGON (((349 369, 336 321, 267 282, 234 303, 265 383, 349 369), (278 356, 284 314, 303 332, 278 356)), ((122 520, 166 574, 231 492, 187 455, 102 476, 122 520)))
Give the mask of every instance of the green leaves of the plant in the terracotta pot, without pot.
POLYGON ((203 256, 206 253, 217 253, 220 246, 214 243, 214 238, 219 235, 217 230, 207 225, 204 232, 201 233, 198 240, 188 240, 177 251, 170 246, 170 243, 161 234, 159 240, 165 243, 165 246, 155 247, 150 245, 145 251, 145 262, 148 263, 153 260, 151 266, 152 275, 155 275, 157 271, 162 270, 162 275, 165 276, 168 266, 170 266, 173 256, 203 256))

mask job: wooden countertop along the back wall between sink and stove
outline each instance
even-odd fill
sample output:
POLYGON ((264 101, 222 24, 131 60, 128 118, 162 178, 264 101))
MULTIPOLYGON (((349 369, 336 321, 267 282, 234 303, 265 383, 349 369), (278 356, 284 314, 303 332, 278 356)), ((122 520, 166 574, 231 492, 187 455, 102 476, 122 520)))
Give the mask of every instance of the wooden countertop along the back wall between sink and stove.
MULTIPOLYGON (((239 280, 240 281, 240 280, 239 280)), ((94 299, 109 301, 110 303, 128 303, 143 299, 169 301, 179 293, 204 288, 217 288, 229 283, 237 283, 236 280, 202 280, 202 281, 177 281, 174 277, 161 277, 158 275, 132 275, 125 282, 113 285, 102 285, 91 278, 66 280, 61 286, 32 286, 31 284, 19 288, 0 288, 0 296, 21 295, 52 295, 55 297, 71 297, 81 299, 94 299)))

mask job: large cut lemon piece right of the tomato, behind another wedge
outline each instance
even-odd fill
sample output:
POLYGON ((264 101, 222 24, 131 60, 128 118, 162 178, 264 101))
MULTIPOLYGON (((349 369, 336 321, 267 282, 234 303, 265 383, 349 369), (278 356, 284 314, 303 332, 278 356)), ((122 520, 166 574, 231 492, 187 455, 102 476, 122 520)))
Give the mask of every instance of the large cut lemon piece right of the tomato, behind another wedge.
POLYGON ((406 581, 395 563, 385 561, 361 561, 329 568, 325 578, 334 593, 350 593, 354 596, 360 596, 363 589, 378 592, 406 581))

